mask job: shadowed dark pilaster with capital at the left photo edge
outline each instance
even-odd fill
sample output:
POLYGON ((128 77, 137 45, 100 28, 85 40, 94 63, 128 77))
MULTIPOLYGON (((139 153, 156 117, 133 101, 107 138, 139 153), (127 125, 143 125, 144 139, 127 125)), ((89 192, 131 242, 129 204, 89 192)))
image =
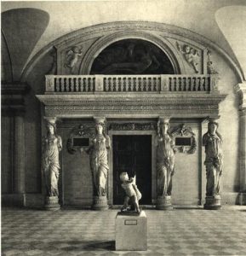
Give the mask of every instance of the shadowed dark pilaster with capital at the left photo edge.
MULTIPOLYGON (((9 160, 13 161, 11 188, 3 194, 3 205, 25 206, 25 100, 27 84, 20 82, 2 84, 2 114, 13 119, 11 125, 12 151, 9 160)), ((10 170, 9 170, 10 172, 10 170)))

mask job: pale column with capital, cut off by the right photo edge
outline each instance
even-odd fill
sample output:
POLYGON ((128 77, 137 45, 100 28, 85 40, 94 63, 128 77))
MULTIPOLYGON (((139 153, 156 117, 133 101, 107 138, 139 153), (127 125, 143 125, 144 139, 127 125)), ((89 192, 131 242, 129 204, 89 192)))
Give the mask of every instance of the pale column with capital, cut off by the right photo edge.
POLYGON ((239 204, 246 205, 246 82, 237 84, 235 90, 239 96, 239 204))

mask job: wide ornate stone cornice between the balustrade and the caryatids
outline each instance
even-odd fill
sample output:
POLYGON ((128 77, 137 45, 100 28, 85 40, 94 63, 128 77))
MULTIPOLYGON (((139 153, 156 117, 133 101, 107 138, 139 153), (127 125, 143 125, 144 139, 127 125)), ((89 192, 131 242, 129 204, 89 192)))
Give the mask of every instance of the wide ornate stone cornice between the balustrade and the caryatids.
POLYGON ((157 117, 205 117, 219 113, 219 102, 226 95, 134 95, 134 96, 77 96, 77 95, 42 95, 37 98, 45 105, 47 116, 109 116, 118 117, 131 114, 148 114, 157 117))

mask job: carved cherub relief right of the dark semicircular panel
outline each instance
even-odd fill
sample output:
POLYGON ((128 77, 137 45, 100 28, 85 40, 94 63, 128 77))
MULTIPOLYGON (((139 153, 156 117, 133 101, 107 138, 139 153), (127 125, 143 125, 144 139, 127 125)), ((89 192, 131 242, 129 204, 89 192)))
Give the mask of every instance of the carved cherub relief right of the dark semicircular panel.
POLYGON ((180 45, 176 42, 177 49, 182 53, 186 62, 194 69, 195 73, 199 73, 199 63, 201 62, 201 55, 198 50, 188 44, 180 45))

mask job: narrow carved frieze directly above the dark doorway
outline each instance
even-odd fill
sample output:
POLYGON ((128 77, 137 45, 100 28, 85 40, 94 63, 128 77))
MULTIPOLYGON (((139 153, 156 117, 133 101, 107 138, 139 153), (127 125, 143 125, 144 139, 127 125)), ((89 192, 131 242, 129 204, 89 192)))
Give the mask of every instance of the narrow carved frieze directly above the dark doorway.
POLYGON ((113 131, 155 131, 156 125, 154 123, 112 123, 109 125, 109 130, 113 131))

